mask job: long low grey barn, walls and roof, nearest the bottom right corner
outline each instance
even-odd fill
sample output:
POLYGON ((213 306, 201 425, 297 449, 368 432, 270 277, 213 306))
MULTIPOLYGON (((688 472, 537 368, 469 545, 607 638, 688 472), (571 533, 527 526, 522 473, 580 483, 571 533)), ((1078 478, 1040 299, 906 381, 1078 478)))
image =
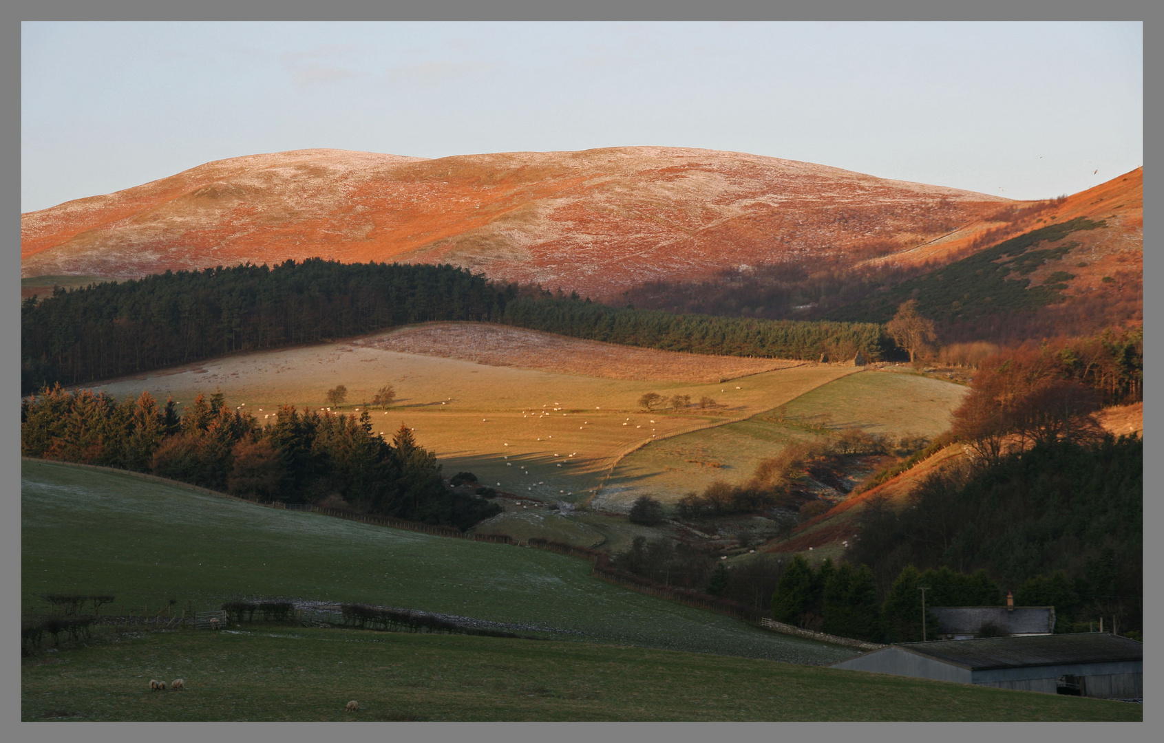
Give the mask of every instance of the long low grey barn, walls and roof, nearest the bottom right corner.
POLYGON ((1133 699, 1143 696, 1144 646, 1106 633, 911 642, 830 667, 1049 694, 1133 699))

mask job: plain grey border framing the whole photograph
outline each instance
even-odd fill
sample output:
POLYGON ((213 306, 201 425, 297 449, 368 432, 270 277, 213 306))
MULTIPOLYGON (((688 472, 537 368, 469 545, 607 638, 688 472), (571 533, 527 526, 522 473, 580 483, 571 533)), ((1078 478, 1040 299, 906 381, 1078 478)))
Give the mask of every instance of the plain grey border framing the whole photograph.
MULTIPOLYGON (((943 21, 1028 21, 1028 20, 1079 20, 1079 21, 1142 21, 1144 23, 1145 42, 1156 37, 1154 21, 1161 16, 1158 7, 1147 0, 1115 0, 1109 2, 1053 2, 1052 0, 1023 0, 1020 2, 978 2, 973 6, 968 3, 953 2, 923 2, 922 0, 876 0, 872 2, 857 2, 856 0, 831 0, 818 2, 805 2, 801 0, 795 3, 774 3, 761 0, 719 0, 718 2, 696 2, 693 0, 624 0, 612 2, 602 0, 601 2, 534 2, 531 0, 410 0, 407 2, 375 2, 374 0, 339 0, 331 2, 303 2, 278 1, 278 0, 246 0, 226 2, 223 0, 204 1, 197 5, 179 3, 173 0, 163 2, 147 0, 49 0, 31 1, 15 0, 6 3, 0 9, 0 85, 3 86, 3 100, 9 105, 3 107, 3 127, 0 127, 0 142, 3 147, 0 152, 5 172, 16 177, 0 179, 0 187, 3 188, 2 229, 6 237, 5 244, 19 247, 20 244, 20 41, 22 21, 133 21, 133 20, 158 20, 158 21, 243 21, 243 20, 304 20, 304 21, 796 21, 796 20, 860 20, 860 21, 904 21, 904 20, 943 20, 943 21), (1151 34, 1151 36, 1149 36, 1151 34)), ((1164 69, 1161 65, 1161 57, 1164 56, 1154 44, 1144 44, 1144 69, 1147 71, 1164 69), (1154 64, 1155 63, 1155 64, 1154 64)), ((1158 86, 1152 85, 1152 76, 1145 74, 1145 123, 1150 120, 1159 121, 1159 97, 1158 86)), ((1148 128, 1145 127, 1145 131, 1148 128)), ((1147 155, 1155 152, 1155 142, 1145 138, 1144 150, 1147 155)), ((693 143, 697 147, 697 143, 693 143)), ((1145 169, 1147 170, 1147 169, 1145 169)), ((1152 203, 1158 205, 1158 193, 1151 184, 1155 183, 1155 171, 1145 172, 1145 212, 1150 215, 1144 224, 1144 244, 1157 245, 1161 238, 1162 228, 1151 216, 1158 214, 1152 203)), ((17 287, 20 276, 20 251, 14 248, 7 249, 2 253, 5 264, 13 269, 9 274, 5 272, 5 281, 12 288, 17 287)), ((1145 279, 1154 274, 1161 277, 1164 269, 1162 262, 1155 253, 1144 258, 1145 279)), ((10 295, 19 297, 19 291, 10 295)), ((1144 315, 1158 316, 1151 310, 1156 307, 1161 309, 1164 299, 1157 298, 1155 293, 1148 293, 1144 298, 1144 315)), ((20 337, 20 321, 16 313, 16 301, 12 299, 9 313, 0 316, 0 328, 3 337, 15 340, 20 337)), ((1157 345, 1158 336, 1155 330, 1148 329, 1145 351, 1149 363, 1145 369, 1148 379, 1159 377, 1156 363, 1162 353, 1157 345)), ((6 396, 6 405, 16 407, 19 401, 19 355, 10 355, 5 362, 3 387, 9 390, 6 396)), ((1155 399, 1155 383, 1145 379, 1145 408, 1151 409, 1155 399), (1150 391, 1150 392, 1149 392, 1150 391)), ((12 409, 12 408, 9 408, 12 409)), ((10 415, 16 416, 17 409, 10 415)), ((1147 417, 1147 416, 1145 416, 1147 417)), ((9 419, 12 420, 12 419, 9 419)), ((1145 421, 1145 433, 1152 424, 1145 421)), ((0 463, 2 472, 0 476, 0 556, 2 556, 2 577, 6 587, 19 587, 20 574, 20 434, 14 426, 0 428, 0 435, 5 442, 0 446, 0 463)), ((1145 465, 1148 483, 1158 481, 1162 474, 1161 460, 1148 457, 1145 465)), ((1145 499, 1144 509, 1145 530, 1150 524, 1159 526, 1164 522, 1164 503, 1158 499, 1145 499)), ((1144 548, 1145 563, 1149 565, 1161 564, 1164 557, 1164 544, 1149 541, 1144 548)), ((1154 571, 1147 573, 1148 585, 1145 585, 1145 629, 1149 638, 1155 638, 1156 630, 1164 630, 1164 620, 1161 619, 1162 600, 1161 581, 1154 571), (1149 610, 1155 609, 1155 610, 1149 610)), ((9 591, 10 595, 10 591, 9 591)), ((9 621, 10 627, 19 622, 19 602, 6 602, 3 615, 9 621)), ((1155 651, 1156 644, 1149 642, 1148 652, 1149 665, 1155 669, 1151 658, 1158 658, 1155 651)), ((7 721, 20 720, 20 663, 16 655, 16 645, 9 642, 5 648, 5 670, 0 673, 0 714, 7 721)), ((1149 678, 1156 678, 1149 673, 1149 678)), ((1152 702, 1161 701, 1159 687, 1149 685, 1145 688, 1145 715, 1144 723, 1116 723, 1117 729, 1096 729, 1094 724, 1069 724, 1069 723, 1023 723, 1021 735, 1024 738, 1073 741, 1092 740, 1096 735, 1119 735, 1121 740, 1149 740, 1150 727, 1147 724, 1158 719, 1152 702)), ((594 740, 666 740, 670 741, 704 741, 724 735, 732 736, 739 741, 767 741, 767 740, 822 740, 835 741, 852 736, 886 741, 910 741, 910 740, 970 740, 982 735, 988 737, 998 736, 1006 740, 1014 735, 1013 723, 1007 726, 1009 735, 1003 730, 1005 723, 870 723, 861 722, 817 722, 817 723, 774 723, 762 722, 721 722, 721 723, 615 723, 615 722, 520 722, 520 723, 457 723, 457 722, 434 722, 434 723, 375 723, 346 726, 338 730, 334 726, 325 730, 320 723, 229 723, 229 722, 194 722, 194 723, 142 723, 142 722, 109 722, 93 726, 87 724, 84 730, 66 730, 58 726, 66 723, 58 722, 17 722, 14 727, 16 737, 20 741, 55 741, 63 736, 84 735, 86 738, 97 735, 105 741, 136 741, 152 738, 158 735, 166 736, 168 740, 196 740, 205 736, 227 735, 236 737, 244 735, 247 740, 278 740, 278 741, 310 741, 322 736, 352 741, 383 741, 391 736, 405 741, 445 741, 464 737, 474 740, 484 737, 485 740, 505 741, 594 741, 594 740), (393 726, 385 728, 384 726, 393 726), (471 726, 471 728, 469 727, 471 726)))

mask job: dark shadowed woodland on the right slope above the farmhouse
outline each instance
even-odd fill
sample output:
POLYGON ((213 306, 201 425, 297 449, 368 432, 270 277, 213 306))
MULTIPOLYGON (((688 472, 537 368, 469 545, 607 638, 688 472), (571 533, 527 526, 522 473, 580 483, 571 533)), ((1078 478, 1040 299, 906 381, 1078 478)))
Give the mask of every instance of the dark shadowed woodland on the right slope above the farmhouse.
POLYGON ((986 570, 1009 586, 1063 571, 1062 621, 1143 622, 1143 441, 1106 436, 1013 451, 927 478, 895 509, 873 498, 847 558, 883 591, 907 565, 986 570), (1065 586, 1065 587, 1064 587, 1065 586))

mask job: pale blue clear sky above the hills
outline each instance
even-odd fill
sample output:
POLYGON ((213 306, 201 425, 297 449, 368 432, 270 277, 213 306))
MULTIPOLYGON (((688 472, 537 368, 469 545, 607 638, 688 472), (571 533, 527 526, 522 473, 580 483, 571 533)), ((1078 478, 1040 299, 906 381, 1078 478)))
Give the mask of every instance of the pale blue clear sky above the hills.
POLYGON ((1143 164, 1140 22, 24 22, 21 212, 211 160, 624 145, 1012 199, 1143 164))

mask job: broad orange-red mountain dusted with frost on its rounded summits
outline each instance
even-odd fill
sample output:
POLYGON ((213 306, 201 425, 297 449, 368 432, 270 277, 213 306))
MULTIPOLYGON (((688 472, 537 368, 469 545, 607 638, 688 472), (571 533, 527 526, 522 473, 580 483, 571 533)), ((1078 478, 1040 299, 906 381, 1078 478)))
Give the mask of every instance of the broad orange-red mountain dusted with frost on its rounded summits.
MULTIPOLYGON (((299 150, 208 163, 22 215, 22 276, 334 257, 454 263, 610 295, 797 256, 857 260, 1000 226, 1017 202, 681 148, 421 159, 299 150)), ((1018 205, 1022 206, 1022 205, 1018 205)))

